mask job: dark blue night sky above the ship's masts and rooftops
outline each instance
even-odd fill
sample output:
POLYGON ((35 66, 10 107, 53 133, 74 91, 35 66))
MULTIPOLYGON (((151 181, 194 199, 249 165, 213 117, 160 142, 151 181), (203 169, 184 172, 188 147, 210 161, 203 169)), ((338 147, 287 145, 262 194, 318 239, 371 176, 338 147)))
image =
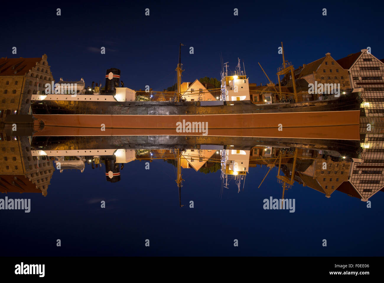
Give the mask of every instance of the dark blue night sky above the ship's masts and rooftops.
POLYGON ((185 45, 183 81, 220 79, 220 53, 232 70, 237 57, 244 60, 250 82, 267 82, 257 62, 276 81, 281 41, 286 60, 295 67, 327 52, 337 60, 368 46, 378 59, 384 58, 382 9, 375 8, 382 6, 379 1, 108 3, 33 3, 22 10, 4 3, 1 56, 45 53, 56 81, 83 77, 86 85, 104 85, 106 69, 115 67, 121 69, 125 86, 137 90, 174 84, 179 42, 185 45), (61 16, 56 16, 56 8, 61 8, 61 16), (145 8, 150 16, 144 15, 145 8), (102 46, 106 54, 100 54, 102 46), (194 54, 189 54, 190 46, 194 54))

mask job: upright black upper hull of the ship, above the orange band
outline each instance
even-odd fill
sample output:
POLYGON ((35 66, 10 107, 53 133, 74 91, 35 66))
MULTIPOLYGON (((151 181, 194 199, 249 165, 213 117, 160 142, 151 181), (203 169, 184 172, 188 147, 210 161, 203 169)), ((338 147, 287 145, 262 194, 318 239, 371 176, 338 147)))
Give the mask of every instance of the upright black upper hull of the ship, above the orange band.
POLYGON ((279 112, 317 112, 360 110, 359 92, 341 94, 338 99, 299 103, 253 104, 249 100, 225 101, 223 105, 201 106, 200 102, 97 102, 42 100, 31 104, 33 114, 98 115, 210 115, 279 112))

